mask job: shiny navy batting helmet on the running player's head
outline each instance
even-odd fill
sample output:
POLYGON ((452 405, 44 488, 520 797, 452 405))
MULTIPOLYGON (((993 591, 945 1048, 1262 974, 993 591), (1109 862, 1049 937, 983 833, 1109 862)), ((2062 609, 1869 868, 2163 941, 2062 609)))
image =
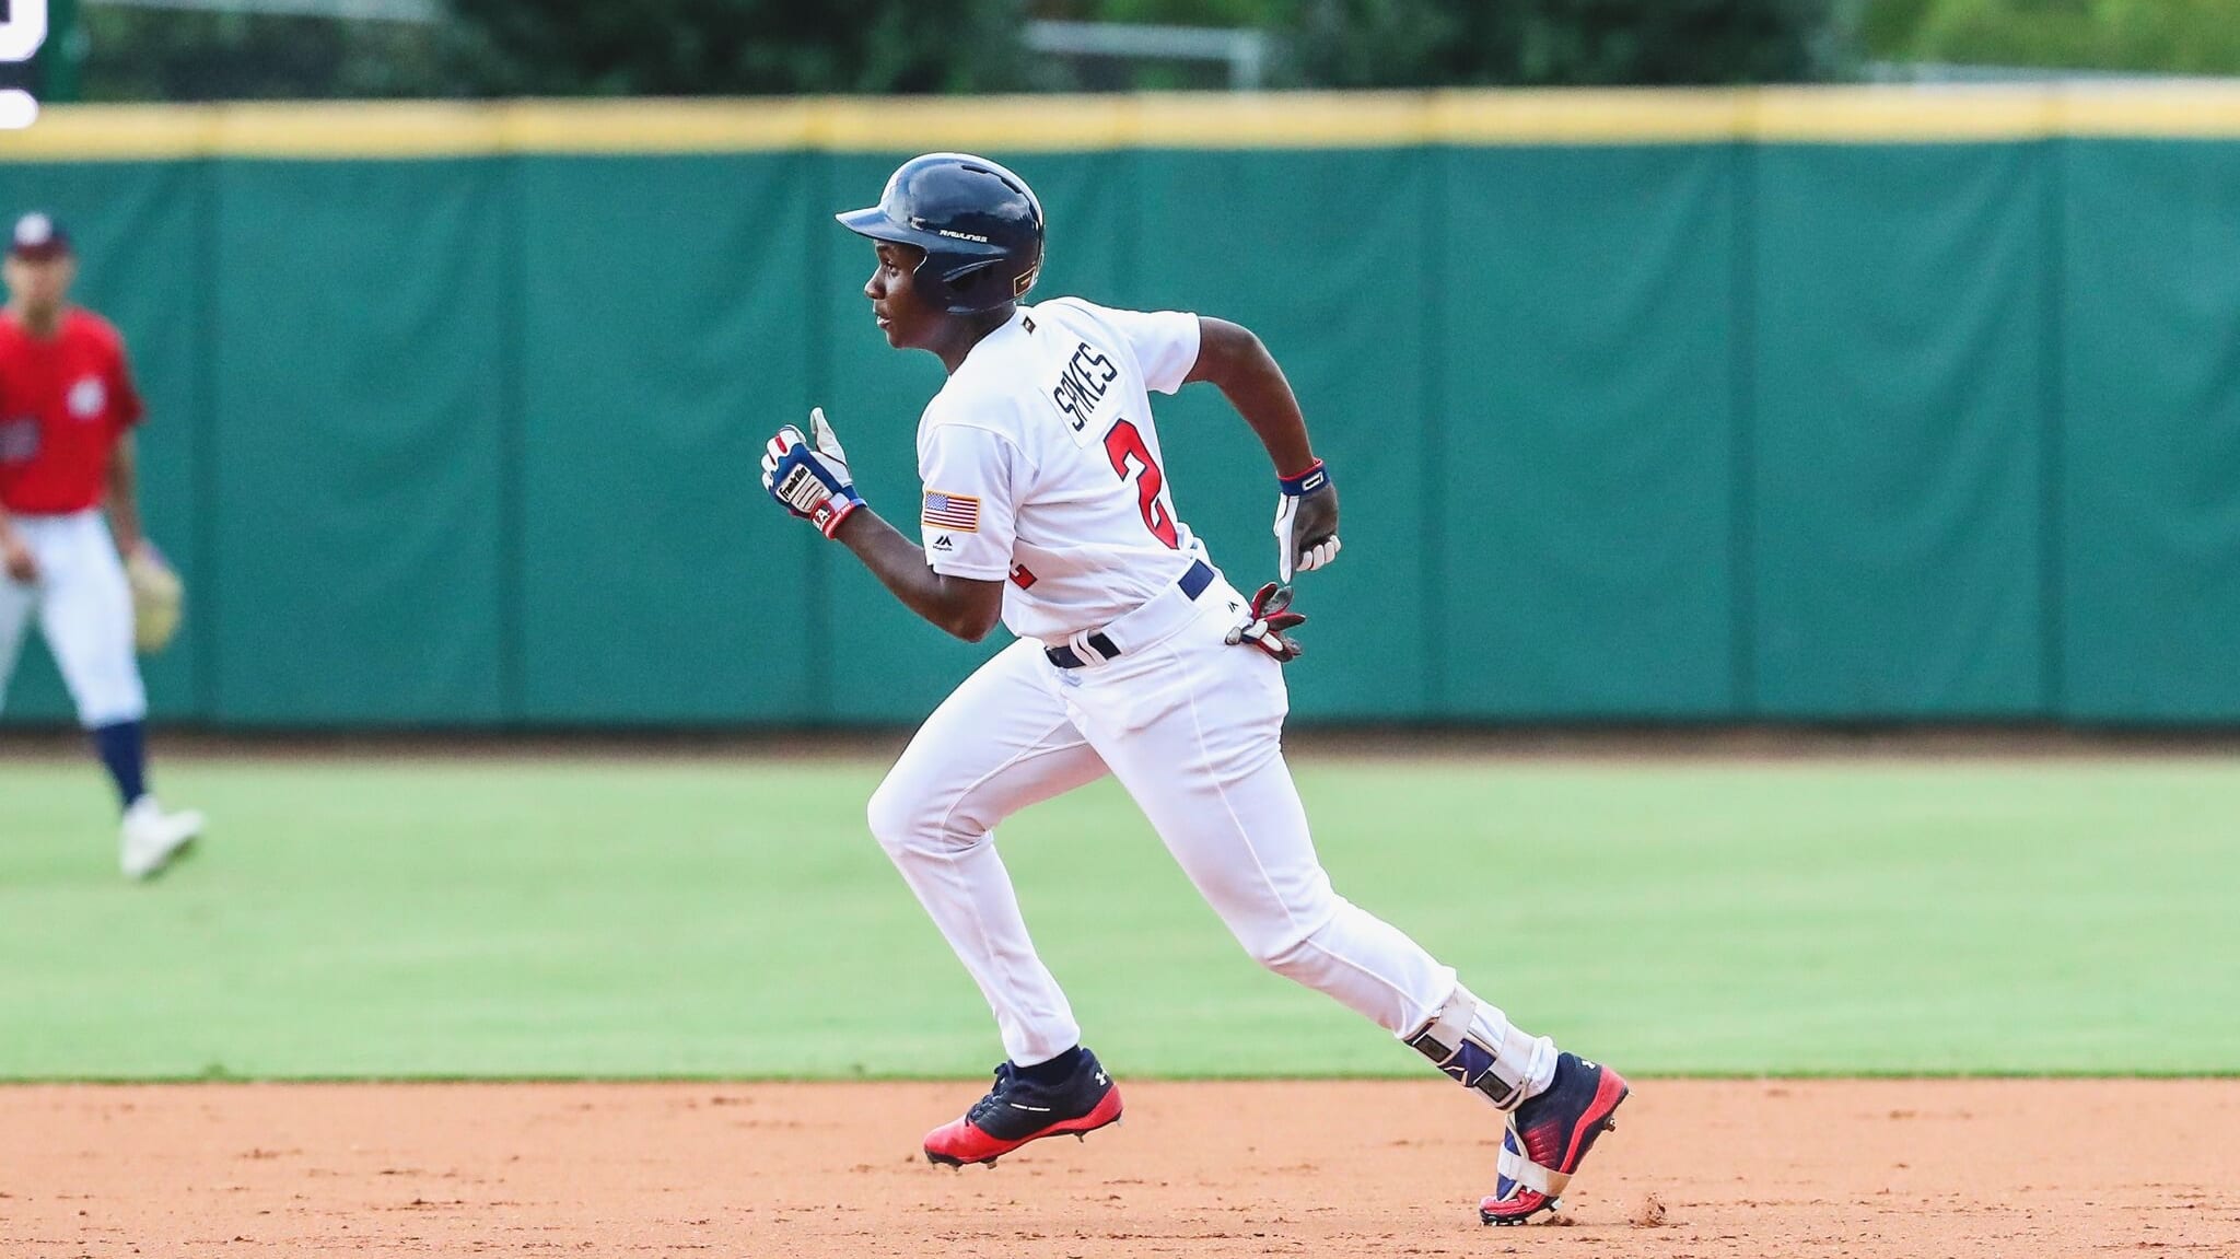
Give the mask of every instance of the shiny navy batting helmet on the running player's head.
POLYGON ((950 314, 1015 302, 1042 271, 1042 202, 1026 179, 986 157, 912 157, 876 206, 833 217, 858 235, 923 249, 916 278, 932 280, 930 296, 950 314))

